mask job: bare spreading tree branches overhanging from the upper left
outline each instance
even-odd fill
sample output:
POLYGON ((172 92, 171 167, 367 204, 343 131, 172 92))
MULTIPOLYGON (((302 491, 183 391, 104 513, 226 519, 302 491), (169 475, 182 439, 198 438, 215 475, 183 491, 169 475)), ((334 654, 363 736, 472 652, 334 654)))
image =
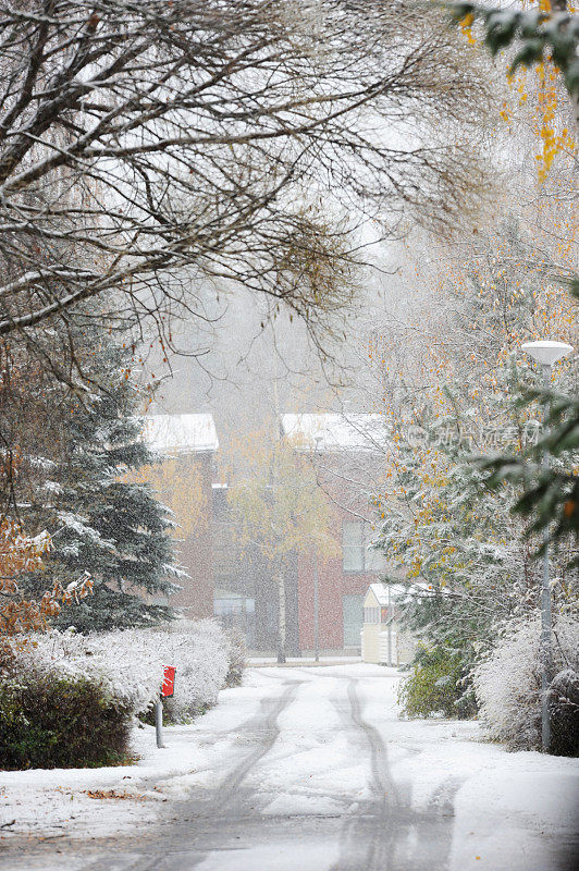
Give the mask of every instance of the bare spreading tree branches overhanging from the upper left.
POLYGON ((209 281, 320 343, 355 289, 348 216, 448 230, 480 191, 486 94, 442 14, 0 0, 0 335, 103 294, 197 317, 209 281))

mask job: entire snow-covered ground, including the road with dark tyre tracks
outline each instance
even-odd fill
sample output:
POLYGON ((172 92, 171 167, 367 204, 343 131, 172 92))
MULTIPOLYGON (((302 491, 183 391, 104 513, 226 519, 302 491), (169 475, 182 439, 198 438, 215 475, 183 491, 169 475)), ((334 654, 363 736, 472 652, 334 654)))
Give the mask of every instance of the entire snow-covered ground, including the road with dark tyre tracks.
POLYGON ((137 765, 2 772, 0 869, 570 871, 579 761, 401 721, 397 679, 252 668, 137 765))

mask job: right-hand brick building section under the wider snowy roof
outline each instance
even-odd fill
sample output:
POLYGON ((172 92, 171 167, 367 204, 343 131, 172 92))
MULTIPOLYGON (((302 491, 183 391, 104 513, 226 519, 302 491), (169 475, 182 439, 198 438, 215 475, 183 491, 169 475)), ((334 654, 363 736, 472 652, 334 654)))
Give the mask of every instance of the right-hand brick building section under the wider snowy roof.
POLYGON ((296 451, 308 452, 319 486, 333 506, 332 531, 341 543, 340 556, 334 559, 296 555, 299 649, 358 652, 365 596, 387 569, 383 555, 369 547, 375 531, 368 501, 386 464, 384 418, 282 415, 281 430, 296 451))

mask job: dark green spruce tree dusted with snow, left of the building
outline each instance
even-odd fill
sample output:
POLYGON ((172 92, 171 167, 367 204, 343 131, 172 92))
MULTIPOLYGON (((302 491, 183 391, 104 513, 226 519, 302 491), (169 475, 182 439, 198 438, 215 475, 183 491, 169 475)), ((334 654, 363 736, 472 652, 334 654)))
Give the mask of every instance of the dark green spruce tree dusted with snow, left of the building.
POLYGON ((93 389, 60 410, 61 442, 45 495, 32 510, 53 550, 42 578, 28 584, 46 589, 47 572, 64 584, 90 574, 93 596, 63 609, 53 625, 83 633, 150 625, 172 616, 167 603, 147 599, 167 600, 182 574, 170 536, 174 524, 149 484, 131 481, 132 471, 156 459, 141 439, 144 396, 131 375, 131 349, 93 323, 84 326, 83 341, 93 389))

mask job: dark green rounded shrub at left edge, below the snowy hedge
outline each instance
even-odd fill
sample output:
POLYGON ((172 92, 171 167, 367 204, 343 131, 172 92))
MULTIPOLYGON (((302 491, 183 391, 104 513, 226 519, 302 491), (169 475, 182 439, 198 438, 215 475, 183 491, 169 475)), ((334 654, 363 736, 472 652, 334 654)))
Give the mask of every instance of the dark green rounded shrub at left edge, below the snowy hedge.
POLYGON ((54 674, 0 684, 0 768, 86 768, 127 757, 131 712, 86 678, 54 674))

